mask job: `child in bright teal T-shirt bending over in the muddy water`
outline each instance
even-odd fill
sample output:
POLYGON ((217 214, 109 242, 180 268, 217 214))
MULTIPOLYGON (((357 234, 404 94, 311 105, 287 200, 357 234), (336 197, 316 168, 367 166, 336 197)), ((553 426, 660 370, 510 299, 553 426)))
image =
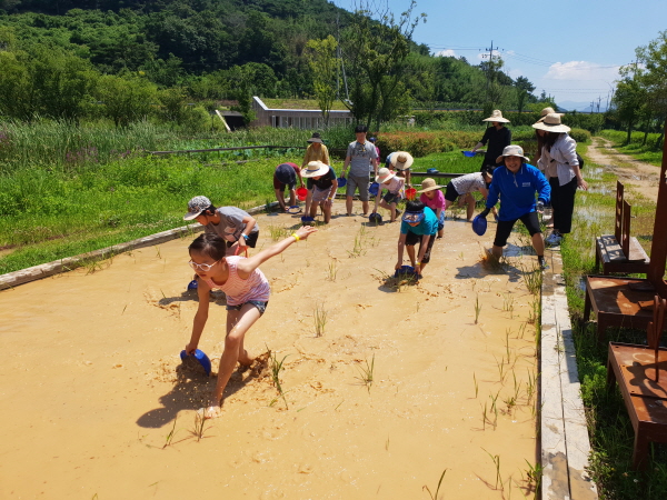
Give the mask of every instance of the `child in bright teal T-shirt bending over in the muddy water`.
POLYGON ((424 274, 424 268, 430 261, 431 249, 438 233, 436 213, 421 201, 408 201, 400 223, 398 238, 398 260, 396 269, 402 266, 404 248, 408 248, 410 263, 417 274, 424 274), (419 242, 419 254, 415 259, 415 244, 419 242))

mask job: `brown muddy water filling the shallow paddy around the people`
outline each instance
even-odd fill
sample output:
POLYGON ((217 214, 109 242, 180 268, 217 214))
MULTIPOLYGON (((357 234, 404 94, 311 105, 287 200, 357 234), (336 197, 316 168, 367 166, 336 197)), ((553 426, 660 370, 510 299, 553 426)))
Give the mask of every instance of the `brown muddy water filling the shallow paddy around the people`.
MULTIPOLYGON (((260 216, 258 247, 298 220, 260 216)), ((179 358, 197 309, 190 240, 0 292, 0 498, 417 499, 444 470, 440 498, 532 498, 536 296, 521 270, 536 258, 515 239, 490 272, 495 229, 448 220, 412 286, 386 282, 399 223, 361 217, 266 262, 272 296, 246 347, 285 359, 285 400, 270 376, 235 373, 202 439, 215 378, 179 358)), ((200 348, 217 372, 226 310, 211 306, 200 348)))

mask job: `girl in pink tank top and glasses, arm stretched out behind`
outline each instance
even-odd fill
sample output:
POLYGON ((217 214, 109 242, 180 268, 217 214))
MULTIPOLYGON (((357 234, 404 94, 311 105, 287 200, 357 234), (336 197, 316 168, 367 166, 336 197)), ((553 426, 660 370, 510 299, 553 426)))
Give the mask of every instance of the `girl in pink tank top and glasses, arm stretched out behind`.
POLYGON ((270 289, 259 264, 285 251, 296 241, 305 240, 317 229, 299 228, 292 236, 246 259, 226 257, 227 242, 218 234, 203 233, 189 247, 190 266, 197 272, 199 307, 195 314, 190 342, 186 352, 193 354, 201 339, 209 312, 209 292, 222 290, 227 294, 227 337, 218 369, 218 383, 210 406, 205 410, 207 418, 220 414, 222 393, 237 362, 251 364, 252 358, 243 348, 246 332, 263 314, 269 302, 270 289))

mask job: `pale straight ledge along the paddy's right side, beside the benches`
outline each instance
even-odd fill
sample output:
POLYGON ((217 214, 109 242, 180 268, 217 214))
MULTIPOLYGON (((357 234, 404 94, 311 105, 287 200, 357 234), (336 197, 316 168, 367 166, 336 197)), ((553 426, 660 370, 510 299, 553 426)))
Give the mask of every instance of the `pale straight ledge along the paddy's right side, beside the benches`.
POLYGON ((588 476, 590 442, 559 252, 545 272, 540 340, 542 500, 594 500, 588 476))

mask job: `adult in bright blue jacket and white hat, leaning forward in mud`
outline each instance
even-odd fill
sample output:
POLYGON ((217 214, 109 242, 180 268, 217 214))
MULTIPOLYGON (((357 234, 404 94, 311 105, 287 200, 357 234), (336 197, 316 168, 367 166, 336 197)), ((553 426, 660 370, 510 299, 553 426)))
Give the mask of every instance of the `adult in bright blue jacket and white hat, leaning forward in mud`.
POLYGON ((515 222, 520 220, 530 233, 539 267, 546 269, 545 240, 539 228, 536 207, 541 210, 549 201, 551 196, 549 182, 538 169, 528 164, 528 158, 524 156, 524 149, 520 146, 506 147, 496 161, 505 164, 494 170, 494 180, 489 187, 486 209, 480 213, 480 217, 487 217, 498 202, 498 198, 501 198, 491 253, 497 259, 502 257, 502 247, 507 244, 507 238, 509 238, 515 222), (536 192, 537 206, 535 203, 536 192))

